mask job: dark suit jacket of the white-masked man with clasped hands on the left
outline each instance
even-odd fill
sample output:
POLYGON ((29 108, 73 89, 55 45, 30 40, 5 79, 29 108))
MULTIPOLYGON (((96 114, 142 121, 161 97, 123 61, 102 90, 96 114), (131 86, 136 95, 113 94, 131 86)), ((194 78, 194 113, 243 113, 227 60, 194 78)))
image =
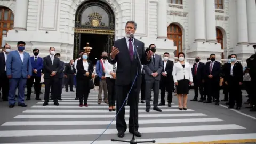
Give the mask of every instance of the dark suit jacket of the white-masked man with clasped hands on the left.
POLYGON ((44 62, 43 62, 44 79, 59 78, 60 68, 61 68, 61 64, 60 64, 60 59, 59 58, 54 58, 53 64, 52 64, 52 60, 50 58, 50 55, 44 57, 44 62), (50 76, 52 71, 56 71, 56 75, 53 76, 53 77, 50 76))

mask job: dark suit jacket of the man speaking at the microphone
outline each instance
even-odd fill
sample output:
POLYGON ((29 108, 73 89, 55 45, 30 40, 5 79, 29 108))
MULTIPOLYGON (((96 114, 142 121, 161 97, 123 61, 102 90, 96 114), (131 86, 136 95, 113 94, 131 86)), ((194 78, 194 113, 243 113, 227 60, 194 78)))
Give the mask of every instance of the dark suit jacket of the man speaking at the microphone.
MULTIPOLYGON (((145 47, 144 43, 134 38, 134 49, 137 49, 139 59, 142 63, 142 65, 147 65, 151 62, 147 61, 147 57, 145 54, 145 47)), ((132 84, 132 82, 135 79, 135 76, 138 72, 137 77, 137 84, 141 85, 141 67, 139 64, 138 58, 135 59, 133 57, 133 60, 131 61, 130 55, 129 55, 129 48, 126 43, 126 38, 118 39, 115 41, 114 44, 115 47, 119 49, 119 53, 116 55, 115 59, 111 60, 111 58, 108 59, 108 62, 114 65, 116 62, 118 63, 118 67, 116 70, 116 85, 129 85, 132 84)), ((134 50, 135 52, 135 50, 134 50)))

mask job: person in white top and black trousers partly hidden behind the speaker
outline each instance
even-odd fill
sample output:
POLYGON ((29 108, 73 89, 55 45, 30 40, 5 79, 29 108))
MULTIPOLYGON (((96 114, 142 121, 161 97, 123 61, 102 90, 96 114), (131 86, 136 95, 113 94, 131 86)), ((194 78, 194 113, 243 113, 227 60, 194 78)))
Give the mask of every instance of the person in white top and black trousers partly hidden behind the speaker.
POLYGON ((107 82, 108 89, 108 111, 115 111, 115 103, 116 103, 116 93, 115 93, 115 83, 116 83, 116 68, 117 63, 115 65, 110 64, 109 62, 105 62, 105 77, 107 82))

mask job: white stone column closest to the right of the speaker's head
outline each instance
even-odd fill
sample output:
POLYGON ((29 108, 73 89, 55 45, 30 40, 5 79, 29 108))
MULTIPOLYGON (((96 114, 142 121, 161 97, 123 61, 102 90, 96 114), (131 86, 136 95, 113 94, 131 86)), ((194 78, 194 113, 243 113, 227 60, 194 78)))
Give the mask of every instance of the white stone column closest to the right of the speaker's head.
POLYGON ((167 0, 157 3, 157 38, 167 39, 167 0))

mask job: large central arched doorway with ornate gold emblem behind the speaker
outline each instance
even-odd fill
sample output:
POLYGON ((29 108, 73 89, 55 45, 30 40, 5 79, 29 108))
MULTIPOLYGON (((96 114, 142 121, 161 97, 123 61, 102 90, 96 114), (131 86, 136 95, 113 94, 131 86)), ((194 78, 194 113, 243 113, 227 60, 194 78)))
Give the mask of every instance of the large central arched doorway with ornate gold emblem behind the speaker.
POLYGON ((80 5, 75 17, 74 59, 89 43, 89 59, 96 63, 103 51, 110 52, 114 44, 115 15, 105 2, 90 0, 80 5))

